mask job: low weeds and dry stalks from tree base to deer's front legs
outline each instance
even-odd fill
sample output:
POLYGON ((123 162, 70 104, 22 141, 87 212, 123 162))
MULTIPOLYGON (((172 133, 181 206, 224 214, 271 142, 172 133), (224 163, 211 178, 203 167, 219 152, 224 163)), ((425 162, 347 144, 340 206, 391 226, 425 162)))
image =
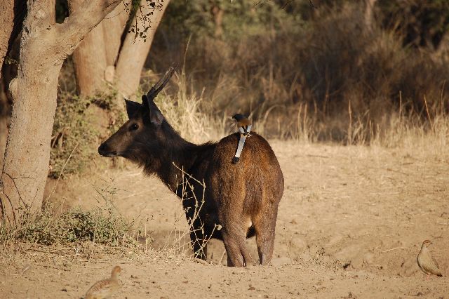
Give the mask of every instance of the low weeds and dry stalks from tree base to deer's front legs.
MULTIPOLYGON (((183 176, 188 180, 182 180, 181 201, 191 200, 192 182, 205 187, 204 182, 199 182, 182 168, 183 176)), ((93 197, 98 202, 93 208, 81 208, 74 206, 67 208, 63 201, 60 204, 54 194, 51 201, 47 201, 41 213, 31 214, 25 211, 22 218, 15 226, 3 223, 0 226, 0 253, 4 257, 18 257, 29 252, 38 251, 48 255, 58 253, 62 256, 74 256, 76 260, 101 257, 100 253, 115 254, 125 251, 146 253, 149 255, 163 255, 168 259, 194 259, 190 234, 203 227, 193 227, 193 222, 199 218, 199 212, 204 204, 204 194, 200 198, 193 197, 196 201, 194 215, 184 225, 185 214, 175 213, 173 222, 170 221, 171 230, 165 237, 163 246, 155 250, 152 244, 152 227, 148 227, 148 215, 138 215, 136 218, 125 218, 115 206, 118 199, 125 192, 130 197, 132 190, 121 190, 114 187, 114 180, 104 180, 100 185, 91 185, 98 196, 93 197)), ((60 195, 59 195, 60 196, 60 195)), ((220 230, 220 225, 215 229, 220 230)), ((202 241, 200 250, 206 246, 208 239, 202 241)), ((195 259, 194 259, 195 260, 195 259)), ((73 259, 72 259, 73 262, 73 259)))

